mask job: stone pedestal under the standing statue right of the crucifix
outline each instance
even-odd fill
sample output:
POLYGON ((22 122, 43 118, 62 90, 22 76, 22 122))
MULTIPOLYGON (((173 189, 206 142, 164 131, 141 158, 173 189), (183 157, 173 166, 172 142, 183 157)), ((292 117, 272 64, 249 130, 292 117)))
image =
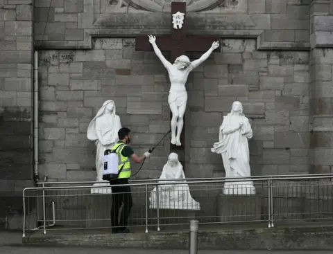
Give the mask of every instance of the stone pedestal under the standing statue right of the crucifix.
POLYGON ((261 198, 258 195, 217 196, 217 216, 220 222, 261 220, 261 198))

